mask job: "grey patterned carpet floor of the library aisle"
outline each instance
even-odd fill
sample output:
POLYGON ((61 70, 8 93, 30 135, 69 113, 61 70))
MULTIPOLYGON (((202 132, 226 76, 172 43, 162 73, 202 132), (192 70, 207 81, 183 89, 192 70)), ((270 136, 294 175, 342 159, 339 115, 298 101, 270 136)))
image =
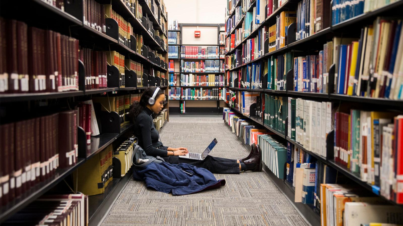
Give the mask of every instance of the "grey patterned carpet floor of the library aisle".
MULTIPOLYGON (((170 115, 162 130, 166 146, 202 151, 212 140, 212 156, 239 159, 249 153, 224 124, 222 116, 170 115)), ((173 196, 146 189, 131 179, 102 225, 308 225, 264 172, 216 174, 220 189, 173 196)))

